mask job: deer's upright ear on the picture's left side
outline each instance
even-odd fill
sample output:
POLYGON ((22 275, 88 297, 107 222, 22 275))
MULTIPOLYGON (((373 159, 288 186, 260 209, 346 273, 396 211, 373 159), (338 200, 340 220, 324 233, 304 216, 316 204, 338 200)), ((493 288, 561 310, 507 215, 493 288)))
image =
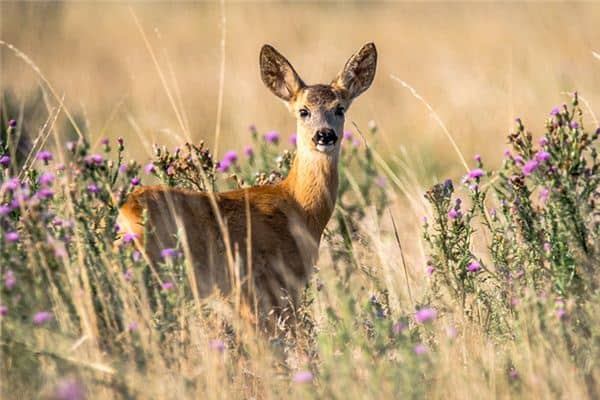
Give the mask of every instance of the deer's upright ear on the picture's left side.
POLYGON ((286 102, 304 87, 292 64, 268 44, 260 50, 260 75, 271 92, 286 102))

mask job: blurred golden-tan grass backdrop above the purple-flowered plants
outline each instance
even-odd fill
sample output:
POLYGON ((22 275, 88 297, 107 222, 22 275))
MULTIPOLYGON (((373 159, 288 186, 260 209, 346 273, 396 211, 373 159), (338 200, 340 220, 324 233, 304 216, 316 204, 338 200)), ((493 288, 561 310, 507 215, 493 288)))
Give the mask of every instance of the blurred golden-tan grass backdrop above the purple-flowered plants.
MULTIPOLYGON (((382 150, 404 147, 433 174, 462 167, 425 105, 391 75, 430 103, 469 160, 480 153, 497 162, 517 116, 539 133, 549 110, 569 101, 565 92, 578 90, 600 109, 594 2, 1 2, 0 17, 1 39, 39 67, 92 142, 139 142, 128 148, 142 162, 153 142, 175 146, 187 136, 214 145, 223 49, 218 152, 250 143, 250 124, 289 136, 294 118, 260 80, 263 43, 317 83, 375 42, 377 76, 349 111, 347 128, 376 121, 382 150)), ((39 75, 6 46, 0 57, 0 89, 27 109, 39 97, 39 75)))

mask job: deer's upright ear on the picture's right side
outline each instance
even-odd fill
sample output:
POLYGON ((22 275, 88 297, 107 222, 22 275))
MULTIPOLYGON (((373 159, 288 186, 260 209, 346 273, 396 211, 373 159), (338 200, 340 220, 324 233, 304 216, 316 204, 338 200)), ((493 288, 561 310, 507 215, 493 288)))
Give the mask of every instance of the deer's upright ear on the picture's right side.
POLYGON ((373 43, 367 43, 350 57, 332 84, 347 90, 353 99, 371 86, 376 69, 377 49, 373 43))

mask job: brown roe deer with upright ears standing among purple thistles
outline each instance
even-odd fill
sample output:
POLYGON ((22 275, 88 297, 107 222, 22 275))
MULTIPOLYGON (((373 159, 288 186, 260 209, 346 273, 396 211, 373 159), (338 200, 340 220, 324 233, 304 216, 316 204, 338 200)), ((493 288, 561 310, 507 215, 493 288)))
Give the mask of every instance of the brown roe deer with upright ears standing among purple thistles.
POLYGON ((264 45, 262 80, 297 119, 288 177, 221 193, 141 187, 121 207, 120 226, 139 239, 147 232, 145 251, 152 262, 161 259, 161 249, 175 247, 178 233, 183 236, 201 296, 215 289, 230 294, 237 279, 245 304, 257 305, 259 315, 252 318, 265 322, 272 310, 279 318, 291 316, 289 303, 292 310, 298 304, 334 210, 344 113, 371 85, 376 63, 375 45, 369 43, 329 85, 306 85, 288 60, 264 45))

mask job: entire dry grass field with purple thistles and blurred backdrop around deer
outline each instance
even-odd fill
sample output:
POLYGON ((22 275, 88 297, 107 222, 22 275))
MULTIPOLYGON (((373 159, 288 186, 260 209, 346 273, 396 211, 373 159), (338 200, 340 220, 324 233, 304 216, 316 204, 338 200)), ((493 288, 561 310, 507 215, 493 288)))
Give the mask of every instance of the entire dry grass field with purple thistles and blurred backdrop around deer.
POLYGON ((2 398, 600 397, 600 7, 0 15, 2 398), (115 247, 136 186, 206 185, 199 168, 219 190, 285 176, 293 118, 260 86, 260 44, 326 80, 368 40, 381 64, 349 113, 296 336, 194 297, 178 251, 153 269, 115 247))

